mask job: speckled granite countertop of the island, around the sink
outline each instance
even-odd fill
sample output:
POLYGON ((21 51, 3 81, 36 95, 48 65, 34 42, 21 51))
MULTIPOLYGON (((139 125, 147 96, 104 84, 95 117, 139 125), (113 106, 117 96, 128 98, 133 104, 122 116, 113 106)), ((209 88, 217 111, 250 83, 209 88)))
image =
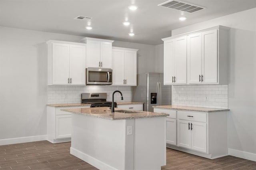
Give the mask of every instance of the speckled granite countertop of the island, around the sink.
MULTIPOLYGON (((166 113, 154 113, 145 111, 134 111, 139 113, 111 113, 109 107, 91 107, 91 108, 76 108, 76 109, 60 109, 61 111, 66 111, 70 113, 76 113, 80 115, 86 115, 91 117, 98 117, 108 120, 122 120, 122 119, 138 119, 138 118, 149 118, 149 117, 166 117, 169 114, 166 113)), ((115 108, 115 111, 123 110, 115 108)))

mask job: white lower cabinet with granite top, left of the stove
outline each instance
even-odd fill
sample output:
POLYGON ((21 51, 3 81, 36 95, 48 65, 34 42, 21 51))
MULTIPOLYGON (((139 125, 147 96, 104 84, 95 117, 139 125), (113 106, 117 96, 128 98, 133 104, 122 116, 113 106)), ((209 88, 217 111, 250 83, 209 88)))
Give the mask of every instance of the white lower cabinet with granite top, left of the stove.
MULTIPOLYGON (((82 106, 90 107, 90 106, 82 106)), ((72 114, 60 109, 82 107, 50 107, 47 106, 47 140, 52 143, 71 141, 72 114)))

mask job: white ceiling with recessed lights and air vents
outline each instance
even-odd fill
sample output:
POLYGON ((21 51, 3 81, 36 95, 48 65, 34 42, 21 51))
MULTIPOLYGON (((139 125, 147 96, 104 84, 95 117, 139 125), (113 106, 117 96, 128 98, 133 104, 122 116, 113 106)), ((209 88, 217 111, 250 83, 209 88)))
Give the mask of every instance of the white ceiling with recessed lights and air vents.
POLYGON ((167 0, 0 0, 0 26, 157 45, 171 30, 256 7, 256 0, 184 0, 194 13, 158 6, 167 0), (138 9, 131 11, 134 4, 138 9), (92 17, 90 23, 74 20, 92 17), (180 21, 180 16, 187 20, 180 21), (130 26, 122 22, 128 20, 130 26), (90 24, 92 30, 85 27, 90 24), (128 33, 133 30, 134 36, 128 33))

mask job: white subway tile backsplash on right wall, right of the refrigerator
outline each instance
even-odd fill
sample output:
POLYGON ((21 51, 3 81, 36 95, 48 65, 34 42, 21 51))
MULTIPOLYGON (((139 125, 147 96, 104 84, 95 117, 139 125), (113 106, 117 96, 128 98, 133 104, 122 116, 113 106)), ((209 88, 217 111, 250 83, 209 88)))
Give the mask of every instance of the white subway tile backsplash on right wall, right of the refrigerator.
POLYGON ((228 109, 228 85, 173 85, 172 105, 228 109))

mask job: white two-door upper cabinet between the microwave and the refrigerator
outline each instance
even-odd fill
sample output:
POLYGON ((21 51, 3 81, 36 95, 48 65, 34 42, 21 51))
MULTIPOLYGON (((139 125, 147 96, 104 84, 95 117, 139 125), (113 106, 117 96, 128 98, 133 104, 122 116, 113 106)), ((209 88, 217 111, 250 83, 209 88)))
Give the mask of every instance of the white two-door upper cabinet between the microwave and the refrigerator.
POLYGON ((112 85, 137 85, 137 51, 113 47, 112 49, 112 85))

